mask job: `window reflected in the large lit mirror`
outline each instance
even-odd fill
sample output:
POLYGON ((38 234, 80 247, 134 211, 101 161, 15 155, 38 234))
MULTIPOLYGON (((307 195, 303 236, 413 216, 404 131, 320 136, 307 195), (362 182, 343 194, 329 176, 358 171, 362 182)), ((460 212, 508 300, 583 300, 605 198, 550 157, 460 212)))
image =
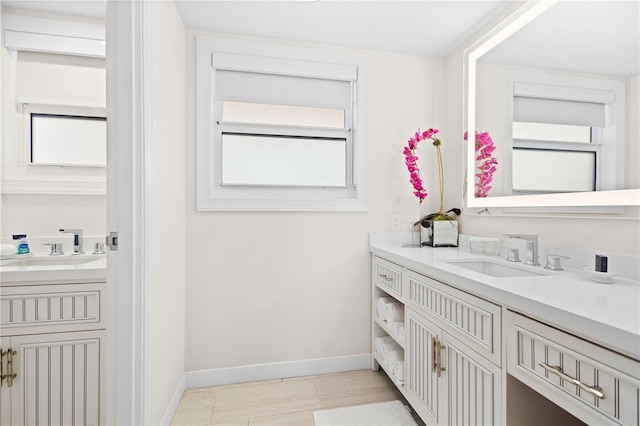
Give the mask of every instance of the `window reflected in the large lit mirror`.
POLYGON ((615 189, 624 162, 624 83, 514 72, 509 80, 513 194, 615 189))

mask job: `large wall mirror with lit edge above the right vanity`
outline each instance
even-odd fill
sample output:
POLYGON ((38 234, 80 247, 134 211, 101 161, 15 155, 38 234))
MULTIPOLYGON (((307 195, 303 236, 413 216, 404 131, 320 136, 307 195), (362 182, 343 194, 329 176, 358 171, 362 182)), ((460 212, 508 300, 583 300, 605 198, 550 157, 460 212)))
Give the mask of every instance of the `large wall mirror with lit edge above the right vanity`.
POLYGON ((470 138, 467 206, 640 205, 639 7, 526 2, 465 52, 466 128, 498 160, 476 196, 470 138))

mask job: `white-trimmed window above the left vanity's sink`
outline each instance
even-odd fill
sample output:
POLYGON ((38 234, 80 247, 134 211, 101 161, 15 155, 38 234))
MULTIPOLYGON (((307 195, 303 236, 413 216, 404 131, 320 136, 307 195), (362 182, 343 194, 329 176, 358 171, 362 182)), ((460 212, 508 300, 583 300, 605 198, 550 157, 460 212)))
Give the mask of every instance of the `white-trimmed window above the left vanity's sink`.
POLYGON ((2 193, 104 195, 104 25, 3 14, 2 34, 2 193))

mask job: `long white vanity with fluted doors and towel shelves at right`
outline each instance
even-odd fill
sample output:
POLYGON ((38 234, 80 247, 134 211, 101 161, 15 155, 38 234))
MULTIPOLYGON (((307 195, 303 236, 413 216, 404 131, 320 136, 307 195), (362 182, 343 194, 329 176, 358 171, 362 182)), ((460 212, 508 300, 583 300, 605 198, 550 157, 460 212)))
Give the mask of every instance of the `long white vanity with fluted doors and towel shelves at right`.
POLYGON ((541 424, 549 406, 563 424, 639 424, 638 281, 404 247, 389 234, 372 234, 370 251, 372 368, 426 424, 541 424), (404 336, 378 315, 389 297, 404 308, 404 336), (401 376, 376 346, 387 336, 401 376))

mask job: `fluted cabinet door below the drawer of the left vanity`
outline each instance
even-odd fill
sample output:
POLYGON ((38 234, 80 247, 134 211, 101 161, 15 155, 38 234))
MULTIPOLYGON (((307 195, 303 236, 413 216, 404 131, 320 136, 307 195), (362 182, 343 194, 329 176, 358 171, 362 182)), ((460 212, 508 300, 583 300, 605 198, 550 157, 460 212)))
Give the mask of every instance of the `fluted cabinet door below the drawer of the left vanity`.
POLYGON ((12 337, 10 424, 101 424, 102 342, 102 331, 12 337))

